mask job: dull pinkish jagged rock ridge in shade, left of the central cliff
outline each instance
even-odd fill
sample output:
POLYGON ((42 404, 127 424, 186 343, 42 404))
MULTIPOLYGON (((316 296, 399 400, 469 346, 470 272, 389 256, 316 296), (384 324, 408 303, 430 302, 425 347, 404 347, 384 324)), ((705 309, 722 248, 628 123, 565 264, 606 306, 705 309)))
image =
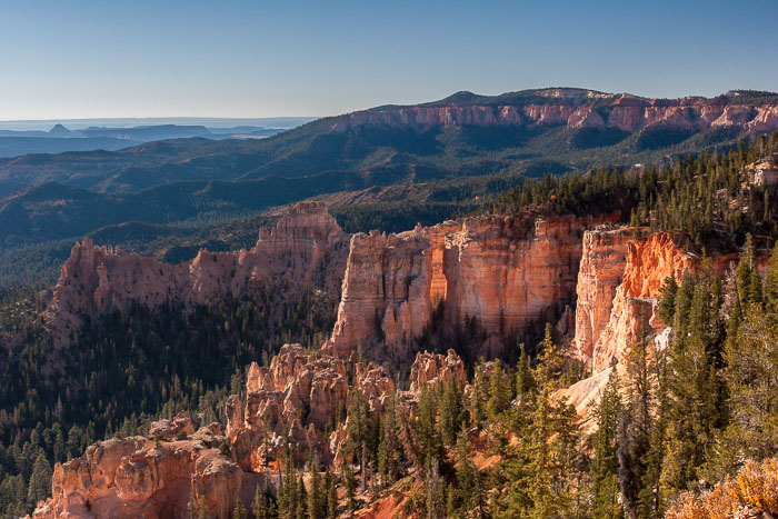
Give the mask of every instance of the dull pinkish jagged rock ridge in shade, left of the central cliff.
POLYGON ((81 315, 131 303, 200 303, 240 295, 252 283, 316 287, 337 293, 346 270, 349 234, 320 202, 295 206, 272 231, 262 229, 251 250, 209 252, 169 265, 121 250, 97 247, 88 238, 73 246, 53 289, 50 313, 59 342, 70 340, 81 315), (70 331, 69 331, 70 330, 70 331))

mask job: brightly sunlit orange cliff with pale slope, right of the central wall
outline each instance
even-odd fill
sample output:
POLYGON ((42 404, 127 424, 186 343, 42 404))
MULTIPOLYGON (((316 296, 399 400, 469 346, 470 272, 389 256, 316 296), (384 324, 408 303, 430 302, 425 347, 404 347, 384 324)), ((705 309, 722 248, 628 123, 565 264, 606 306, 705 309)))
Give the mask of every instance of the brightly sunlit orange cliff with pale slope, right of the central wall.
POLYGON ((678 248, 666 232, 632 239, 636 229, 597 229, 584 237, 578 276, 573 355, 591 376, 559 392, 575 408, 585 431, 597 425, 592 410, 612 370, 625 376, 630 349, 644 337, 667 345, 669 329, 656 315, 665 279, 680 280, 698 258, 678 248))

